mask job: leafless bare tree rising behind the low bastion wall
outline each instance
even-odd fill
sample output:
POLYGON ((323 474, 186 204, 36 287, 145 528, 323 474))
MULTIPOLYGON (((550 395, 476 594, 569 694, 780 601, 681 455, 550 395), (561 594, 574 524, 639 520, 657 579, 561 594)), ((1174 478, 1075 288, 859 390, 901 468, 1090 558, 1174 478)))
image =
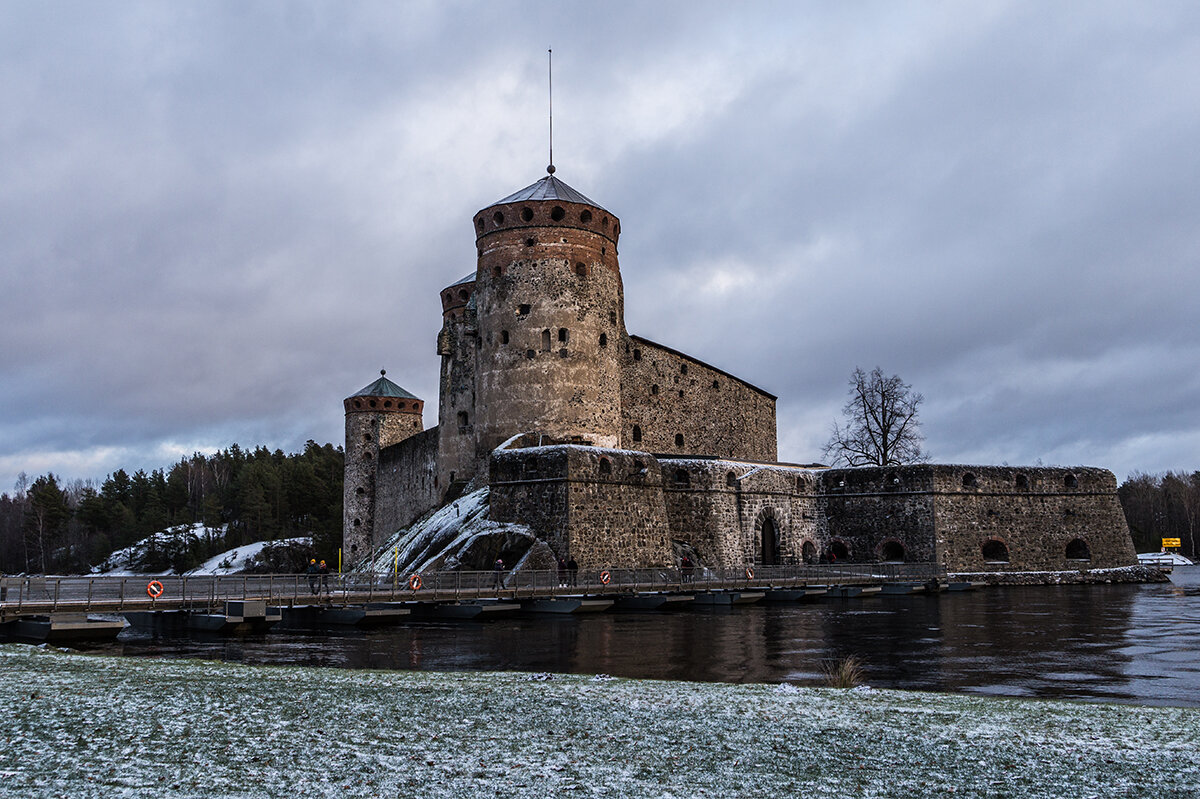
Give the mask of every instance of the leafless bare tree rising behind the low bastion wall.
POLYGON ((850 378, 850 400, 842 405, 844 423, 834 421, 826 457, 834 464, 900 465, 922 463, 917 409, 925 398, 899 376, 884 377, 880 367, 870 374, 856 368, 850 378))

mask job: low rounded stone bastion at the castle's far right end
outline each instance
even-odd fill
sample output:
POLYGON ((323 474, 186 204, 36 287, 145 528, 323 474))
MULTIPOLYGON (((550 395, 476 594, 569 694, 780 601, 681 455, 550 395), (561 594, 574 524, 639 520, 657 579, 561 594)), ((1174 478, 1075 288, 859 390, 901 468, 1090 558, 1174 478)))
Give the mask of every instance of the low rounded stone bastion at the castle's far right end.
POLYGON ((1094 468, 908 465, 822 474, 830 547, 851 560, 949 571, 1108 569, 1136 561, 1116 479, 1094 468))

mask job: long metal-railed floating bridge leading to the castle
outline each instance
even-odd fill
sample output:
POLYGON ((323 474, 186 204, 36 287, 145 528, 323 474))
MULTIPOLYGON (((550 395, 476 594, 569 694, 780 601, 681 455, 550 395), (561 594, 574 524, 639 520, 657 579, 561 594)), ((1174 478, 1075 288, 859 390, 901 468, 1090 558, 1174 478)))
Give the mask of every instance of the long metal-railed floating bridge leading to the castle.
POLYGON ((929 582, 935 564, 815 564, 730 569, 581 569, 130 577, 2 577, 0 617, 54 612, 218 608, 230 600, 272 605, 372 601, 522 600, 563 595, 715 591, 820 584, 929 582), (160 591, 161 589, 161 591, 160 591), (156 594, 157 596, 152 595, 156 594))

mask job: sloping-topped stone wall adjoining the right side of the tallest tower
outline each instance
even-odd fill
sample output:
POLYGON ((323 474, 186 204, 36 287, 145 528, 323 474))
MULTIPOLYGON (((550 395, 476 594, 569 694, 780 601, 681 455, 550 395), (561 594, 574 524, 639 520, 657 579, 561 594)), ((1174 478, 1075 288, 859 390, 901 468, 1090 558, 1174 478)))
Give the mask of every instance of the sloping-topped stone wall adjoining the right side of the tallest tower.
POLYGON ((623 447, 775 459, 772 395, 637 336, 625 342, 622 358, 623 447))

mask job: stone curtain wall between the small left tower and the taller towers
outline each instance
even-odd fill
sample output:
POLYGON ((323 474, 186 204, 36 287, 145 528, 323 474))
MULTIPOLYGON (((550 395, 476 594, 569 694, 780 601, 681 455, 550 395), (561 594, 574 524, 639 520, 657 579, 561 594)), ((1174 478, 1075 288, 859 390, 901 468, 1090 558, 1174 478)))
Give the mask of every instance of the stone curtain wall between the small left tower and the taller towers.
POLYGON ((438 480, 437 463, 437 427, 379 451, 372 548, 440 504, 446 486, 438 480))

